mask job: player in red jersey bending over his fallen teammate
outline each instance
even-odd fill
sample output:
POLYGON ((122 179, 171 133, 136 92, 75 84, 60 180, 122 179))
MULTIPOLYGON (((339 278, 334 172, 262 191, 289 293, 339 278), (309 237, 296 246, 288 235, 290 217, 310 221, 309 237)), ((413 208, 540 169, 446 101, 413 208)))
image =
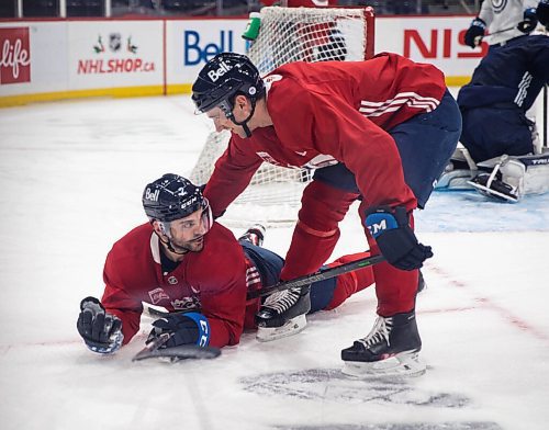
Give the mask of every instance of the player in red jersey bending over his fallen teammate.
MULTIPOLYGON (((442 72, 381 54, 357 63, 293 63, 264 80, 246 56, 225 53, 200 71, 192 99, 217 131, 233 132, 204 190, 215 216, 264 161, 317 169, 302 196, 281 280, 312 273, 329 257, 339 222, 361 199, 370 249, 388 262, 373 268, 374 329, 341 358, 349 373, 369 372, 393 355, 404 363, 395 372, 422 372, 415 293, 418 269, 433 253, 417 241, 412 212, 425 206, 461 131, 442 72)), ((294 288, 265 303, 257 316, 264 336, 291 332, 309 302, 307 288, 294 288)))

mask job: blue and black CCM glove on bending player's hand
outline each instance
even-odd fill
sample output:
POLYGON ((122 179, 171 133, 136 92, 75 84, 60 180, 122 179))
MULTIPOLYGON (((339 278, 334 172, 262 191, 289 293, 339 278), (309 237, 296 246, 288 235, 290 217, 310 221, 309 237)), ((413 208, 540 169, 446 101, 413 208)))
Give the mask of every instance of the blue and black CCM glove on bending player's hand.
POLYGON ((433 257, 430 247, 417 241, 403 206, 396 207, 394 212, 388 206, 368 211, 366 226, 383 257, 396 269, 419 269, 426 259, 433 257))

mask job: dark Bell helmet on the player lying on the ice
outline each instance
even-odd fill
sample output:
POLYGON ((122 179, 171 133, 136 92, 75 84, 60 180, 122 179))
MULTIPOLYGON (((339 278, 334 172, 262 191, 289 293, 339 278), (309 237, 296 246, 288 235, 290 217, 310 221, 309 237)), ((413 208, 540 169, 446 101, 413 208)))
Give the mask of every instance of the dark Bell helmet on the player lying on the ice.
POLYGON ((149 183, 145 186, 142 201, 150 222, 158 220, 169 238, 169 223, 188 217, 199 210, 202 210, 204 229, 208 231, 212 226, 208 199, 202 195, 200 188, 178 174, 166 173, 149 183))

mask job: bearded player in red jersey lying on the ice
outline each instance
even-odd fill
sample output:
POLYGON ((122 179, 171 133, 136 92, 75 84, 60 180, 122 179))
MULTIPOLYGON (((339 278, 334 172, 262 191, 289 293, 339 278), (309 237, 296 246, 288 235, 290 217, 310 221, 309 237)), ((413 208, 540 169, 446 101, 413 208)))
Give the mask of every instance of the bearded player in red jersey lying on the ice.
MULTIPOLYGON (((139 329, 142 302, 169 312, 187 310, 153 324, 149 341, 170 333, 166 347, 236 344, 244 328, 254 328, 260 301, 249 291, 274 284, 283 260, 261 248, 265 229, 250 228, 236 241, 212 220, 199 188, 177 174, 165 174, 143 193, 149 223, 116 241, 107 257, 101 301, 80 304, 77 328, 88 348, 115 352, 139 329)), ((368 257, 345 256, 328 264, 368 257)), ((339 275, 312 285, 311 312, 332 309, 373 281, 371 269, 339 275)), ((304 318, 304 317, 303 317, 304 318)))

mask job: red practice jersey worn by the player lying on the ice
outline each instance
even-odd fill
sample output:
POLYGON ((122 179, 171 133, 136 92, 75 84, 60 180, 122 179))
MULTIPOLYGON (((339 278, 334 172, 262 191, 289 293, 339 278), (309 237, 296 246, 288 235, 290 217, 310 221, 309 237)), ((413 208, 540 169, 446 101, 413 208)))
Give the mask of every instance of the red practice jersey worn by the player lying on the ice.
MULTIPOLYGON (((210 322, 210 344, 236 344, 244 329, 246 278, 259 284, 233 234, 214 223, 201 252, 189 252, 171 272, 164 273, 160 245, 150 224, 134 228, 114 244, 107 257, 102 304, 122 320, 124 343, 139 329, 142 302, 169 312, 197 309, 210 322)), ((257 305, 251 309, 256 310, 257 305)))

